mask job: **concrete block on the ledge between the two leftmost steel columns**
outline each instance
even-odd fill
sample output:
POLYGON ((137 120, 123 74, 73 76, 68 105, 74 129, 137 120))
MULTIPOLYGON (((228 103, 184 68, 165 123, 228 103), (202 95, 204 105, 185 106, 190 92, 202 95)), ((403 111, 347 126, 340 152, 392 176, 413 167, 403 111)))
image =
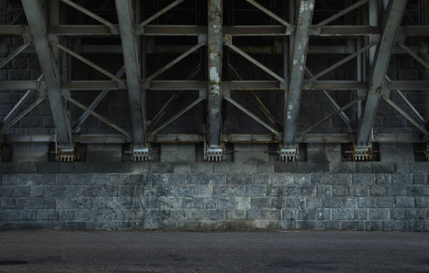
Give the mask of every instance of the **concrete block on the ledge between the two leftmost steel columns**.
POLYGON ((122 144, 88 144, 86 162, 122 162, 122 144))

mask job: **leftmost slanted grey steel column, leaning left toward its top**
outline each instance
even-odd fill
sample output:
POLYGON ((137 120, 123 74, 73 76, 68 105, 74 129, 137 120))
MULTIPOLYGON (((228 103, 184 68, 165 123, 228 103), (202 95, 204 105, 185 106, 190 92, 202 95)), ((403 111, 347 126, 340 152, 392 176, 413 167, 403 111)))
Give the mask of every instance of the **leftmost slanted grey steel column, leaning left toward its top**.
POLYGON ((58 143, 71 145, 71 131, 67 122, 67 113, 64 110, 60 88, 60 71, 50 48, 46 34, 46 15, 40 0, 22 0, 22 6, 27 16, 29 29, 34 38, 34 47, 46 84, 50 110, 52 111, 58 143))

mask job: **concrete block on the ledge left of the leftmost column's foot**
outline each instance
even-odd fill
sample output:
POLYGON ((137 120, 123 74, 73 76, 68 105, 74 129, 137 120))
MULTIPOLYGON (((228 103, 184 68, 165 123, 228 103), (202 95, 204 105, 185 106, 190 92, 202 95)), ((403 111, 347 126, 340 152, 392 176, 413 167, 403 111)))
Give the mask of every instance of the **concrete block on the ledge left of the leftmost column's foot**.
POLYGON ((49 144, 12 144, 13 162, 48 162, 49 144))

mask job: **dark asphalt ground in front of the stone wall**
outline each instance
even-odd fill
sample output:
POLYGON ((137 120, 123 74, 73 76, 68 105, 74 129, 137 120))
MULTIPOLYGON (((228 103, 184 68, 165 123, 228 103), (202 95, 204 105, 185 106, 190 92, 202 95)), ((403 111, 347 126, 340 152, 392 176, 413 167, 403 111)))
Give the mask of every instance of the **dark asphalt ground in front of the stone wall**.
POLYGON ((429 232, 0 232, 0 272, 429 272, 429 232))

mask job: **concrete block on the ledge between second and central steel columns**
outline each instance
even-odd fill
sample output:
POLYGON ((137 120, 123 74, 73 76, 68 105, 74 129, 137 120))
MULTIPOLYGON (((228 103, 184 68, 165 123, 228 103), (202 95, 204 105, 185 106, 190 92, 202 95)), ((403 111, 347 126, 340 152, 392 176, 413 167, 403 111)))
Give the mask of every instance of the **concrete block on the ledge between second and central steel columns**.
POLYGON ((161 144, 161 162, 195 162, 195 144, 161 144))

